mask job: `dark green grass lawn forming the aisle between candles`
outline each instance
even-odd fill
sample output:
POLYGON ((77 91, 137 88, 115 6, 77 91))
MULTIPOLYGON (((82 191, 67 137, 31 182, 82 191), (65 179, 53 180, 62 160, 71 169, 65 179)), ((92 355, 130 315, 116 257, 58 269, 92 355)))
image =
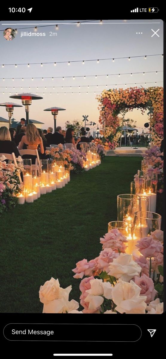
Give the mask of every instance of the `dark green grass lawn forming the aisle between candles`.
POLYGON ((117 195, 130 193, 141 157, 105 157, 88 172, 71 176, 67 186, 33 204, 17 205, 0 218, 0 312, 41 313, 40 285, 51 277, 79 300, 76 262, 102 250, 100 237, 117 219, 117 195))

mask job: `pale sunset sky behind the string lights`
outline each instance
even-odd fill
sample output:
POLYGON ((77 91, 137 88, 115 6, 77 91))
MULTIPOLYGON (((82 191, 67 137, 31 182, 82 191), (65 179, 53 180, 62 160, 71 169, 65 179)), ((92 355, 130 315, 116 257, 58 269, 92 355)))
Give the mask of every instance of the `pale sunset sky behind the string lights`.
MULTIPOLYGON (((78 21, 83 20, 42 20, 40 23, 59 24, 78 21)), ((155 86, 155 82, 157 82, 157 86, 163 86, 162 20, 152 20, 152 22, 149 20, 103 20, 103 24, 100 24, 100 20, 94 20, 90 24, 84 23, 79 27, 76 24, 59 25, 59 30, 55 30, 55 25, 51 25, 50 27, 37 28, 38 33, 45 33, 46 36, 20 37, 21 32, 34 32, 34 26, 37 26, 38 23, 39 21, 36 23, 34 21, 13 21, 9 23, 6 20, 0 24, 0 30, 7 27, 18 29, 13 41, 6 41, 3 37, 3 31, 0 31, 0 102, 12 101, 21 104, 20 100, 13 101, 13 99, 10 99, 9 92, 11 92, 11 95, 16 92, 31 92, 34 94, 37 92, 43 99, 32 101, 32 105, 29 107, 29 118, 44 122, 43 129, 47 129, 48 126, 54 127, 53 116, 50 112, 43 111, 45 108, 58 106, 66 109, 66 111, 59 112, 57 116, 57 125, 63 128, 65 128, 65 122, 68 120, 72 121, 75 118, 82 120, 82 115, 89 115, 89 121, 94 121, 98 124, 99 111, 97 109, 96 95, 100 94, 103 89, 115 88, 115 84, 117 84, 117 88, 134 87, 135 83, 138 87, 141 85, 149 87, 155 86), (22 29, 24 27, 28 29, 22 29), (155 35, 152 29, 154 31, 159 29, 157 34, 160 37, 155 35), (50 32, 57 33, 57 36, 49 36, 50 32), (154 36, 152 36, 153 34, 154 36), (156 54, 160 55, 148 57, 148 55, 156 54), (115 62, 112 62, 113 58, 132 56, 143 57, 135 57, 131 61, 128 61, 128 59, 115 59, 115 62), (146 60, 144 56, 147 56, 146 60), (97 63, 97 59, 106 58, 110 60, 100 60, 97 63), (67 63, 57 64, 56 66, 54 64, 43 64, 41 66, 41 63, 44 62, 76 60, 81 62, 72 62, 70 66, 67 63), (83 60, 85 61, 84 65, 82 64, 83 60), (86 62, 86 60, 95 61, 86 62), (27 65, 18 65, 32 62, 39 62, 40 64, 30 65, 29 67, 27 65), (3 64, 14 65, 2 67, 3 64), (17 67, 15 67, 15 64, 17 64, 17 67), (146 73, 146 71, 154 72, 146 73), (158 71, 157 74, 156 71, 158 71), (135 72, 140 72, 140 74, 134 74, 135 72), (145 75, 143 75, 143 72, 145 72, 145 75), (129 74, 122 75, 122 73, 129 74), (131 73, 133 74, 132 76, 130 75, 131 73), (107 74, 109 74, 109 77, 107 77, 107 74), (118 74, 121 74, 121 76, 119 77, 118 74), (93 76, 88 77, 88 75, 93 76), (96 75, 97 78, 95 77, 96 75), (56 76, 60 76, 60 78, 56 78, 56 76), (72 77, 63 80, 63 76, 72 77), (75 79, 73 79, 73 76, 75 76, 75 79), (84 79, 84 76, 86 76, 86 79, 84 79), (25 79, 26 77, 29 79, 25 79), (38 79, 32 80, 35 77, 38 77, 38 79), (50 79, 42 81, 42 77, 50 77, 50 79), (54 77, 54 80, 52 80, 52 77, 54 77), (3 78, 5 78, 5 81, 3 81, 3 78), (12 78, 14 78, 14 81, 12 78), (24 78, 24 81, 22 81, 22 78, 24 78), (145 82, 147 83, 146 85, 145 82), (72 89, 70 89, 70 86, 72 89), (5 87, 7 88, 5 89, 5 87), (43 95, 43 93, 45 94, 43 95)), ((8 119, 8 114, 3 107, 0 107, 0 116, 8 119)), ((14 109, 14 118, 18 121, 25 116, 25 107, 14 109)), ((133 112, 126 114, 126 117, 137 121, 137 126, 140 127, 139 132, 142 132, 143 125, 147 122, 147 115, 142 116, 141 112, 135 109, 133 112)), ((93 127, 91 128, 92 130, 94 129, 93 127)))

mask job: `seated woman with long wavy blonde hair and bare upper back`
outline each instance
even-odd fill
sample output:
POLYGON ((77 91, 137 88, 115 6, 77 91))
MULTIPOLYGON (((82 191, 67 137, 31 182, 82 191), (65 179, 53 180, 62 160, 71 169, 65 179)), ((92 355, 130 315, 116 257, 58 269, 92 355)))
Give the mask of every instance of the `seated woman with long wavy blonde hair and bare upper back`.
MULTIPOLYGON (((24 144, 27 145, 28 150, 36 150, 36 149, 38 149, 38 146, 39 146, 38 150, 41 152, 41 154, 44 153, 42 138, 39 135, 39 132, 38 132, 36 126, 33 125, 33 123, 28 123, 26 135, 22 137, 21 142, 19 143, 18 149, 22 150, 24 144)), ((23 158, 31 157, 32 164, 35 164, 36 156, 23 155, 22 157, 23 158)))

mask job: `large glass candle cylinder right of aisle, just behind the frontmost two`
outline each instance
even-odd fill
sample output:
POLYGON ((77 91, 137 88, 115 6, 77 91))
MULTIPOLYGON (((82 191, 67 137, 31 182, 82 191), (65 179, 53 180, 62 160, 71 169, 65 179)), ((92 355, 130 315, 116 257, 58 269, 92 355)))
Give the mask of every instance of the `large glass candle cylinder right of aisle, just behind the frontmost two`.
POLYGON ((117 196, 118 221, 133 223, 134 212, 140 210, 140 197, 138 195, 123 194, 117 196))

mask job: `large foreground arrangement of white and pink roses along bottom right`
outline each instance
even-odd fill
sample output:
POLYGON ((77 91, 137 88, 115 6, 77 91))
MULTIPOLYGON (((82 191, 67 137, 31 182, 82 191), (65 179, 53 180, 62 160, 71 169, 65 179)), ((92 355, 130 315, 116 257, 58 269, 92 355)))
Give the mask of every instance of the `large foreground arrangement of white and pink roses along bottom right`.
POLYGON ((80 304, 69 301, 72 286, 63 289, 51 278, 40 287, 43 313, 162 314, 163 232, 137 242, 139 255, 125 253, 127 239, 118 229, 100 238, 102 251, 90 260, 77 262, 74 278, 81 279, 80 304), (83 278, 84 277, 84 278, 83 278))

